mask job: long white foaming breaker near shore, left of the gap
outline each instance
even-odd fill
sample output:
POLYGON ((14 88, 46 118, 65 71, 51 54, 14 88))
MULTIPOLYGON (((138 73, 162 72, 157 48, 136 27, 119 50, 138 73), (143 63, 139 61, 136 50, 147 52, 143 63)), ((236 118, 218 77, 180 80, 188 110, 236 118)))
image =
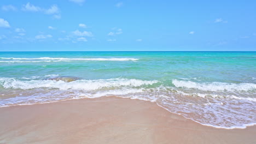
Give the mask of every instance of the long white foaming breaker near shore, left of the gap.
POLYGON ((67 89, 82 89, 86 91, 107 88, 107 87, 138 87, 142 85, 152 85, 158 81, 143 81, 136 79, 100 79, 100 80, 77 80, 72 82, 54 81, 54 80, 31 80, 20 81, 16 79, 0 79, 0 84, 4 88, 59 88, 61 90, 67 89))

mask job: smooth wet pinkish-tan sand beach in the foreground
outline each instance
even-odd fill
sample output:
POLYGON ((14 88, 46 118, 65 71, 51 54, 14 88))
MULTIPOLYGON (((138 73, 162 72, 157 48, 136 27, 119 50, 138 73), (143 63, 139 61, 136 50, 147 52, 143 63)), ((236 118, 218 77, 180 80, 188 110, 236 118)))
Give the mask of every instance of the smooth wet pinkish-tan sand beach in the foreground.
POLYGON ((102 97, 2 107, 0 143, 256 143, 256 127, 217 129, 149 101, 102 97))

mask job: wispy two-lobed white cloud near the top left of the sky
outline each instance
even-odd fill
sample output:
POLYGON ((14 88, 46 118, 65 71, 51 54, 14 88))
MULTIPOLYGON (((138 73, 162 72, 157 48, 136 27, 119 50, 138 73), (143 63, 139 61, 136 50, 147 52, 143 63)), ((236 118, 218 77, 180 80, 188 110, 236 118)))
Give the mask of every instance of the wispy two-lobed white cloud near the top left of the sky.
POLYGON ((26 5, 22 6, 21 10, 32 11, 32 12, 42 12, 47 15, 53 15, 55 19, 61 19, 61 14, 60 14, 61 12, 59 7, 56 4, 51 5, 49 9, 44 9, 44 8, 37 7, 33 4, 27 3, 26 5))

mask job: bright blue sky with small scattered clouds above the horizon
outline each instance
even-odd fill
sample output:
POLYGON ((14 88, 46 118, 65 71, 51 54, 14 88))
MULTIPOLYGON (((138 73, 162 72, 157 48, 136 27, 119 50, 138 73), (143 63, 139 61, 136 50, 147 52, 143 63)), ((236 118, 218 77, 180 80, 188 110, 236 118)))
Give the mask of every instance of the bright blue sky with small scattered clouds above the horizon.
POLYGON ((1 0, 0 51, 256 51, 255 5, 1 0))

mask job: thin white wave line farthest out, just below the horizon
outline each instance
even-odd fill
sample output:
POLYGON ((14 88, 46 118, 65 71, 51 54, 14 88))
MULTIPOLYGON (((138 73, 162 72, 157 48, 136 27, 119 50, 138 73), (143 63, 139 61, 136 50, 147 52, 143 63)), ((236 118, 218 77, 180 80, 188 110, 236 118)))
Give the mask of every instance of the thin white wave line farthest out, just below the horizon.
MULTIPOLYGON (((0 57, 0 59, 13 59, 13 60, 55 60, 55 61, 137 61, 137 58, 55 58, 55 57, 39 57, 39 58, 15 58, 15 57, 0 57)), ((45 61, 45 62, 48 62, 45 61)), ((1 61, 1 62, 14 62, 14 61, 1 61)), ((21 62, 21 61, 16 61, 21 62)), ((28 62, 28 61, 27 61, 28 62)), ((42 62, 42 61, 30 61, 42 62)), ((50 61, 49 61, 50 62, 50 61)))

